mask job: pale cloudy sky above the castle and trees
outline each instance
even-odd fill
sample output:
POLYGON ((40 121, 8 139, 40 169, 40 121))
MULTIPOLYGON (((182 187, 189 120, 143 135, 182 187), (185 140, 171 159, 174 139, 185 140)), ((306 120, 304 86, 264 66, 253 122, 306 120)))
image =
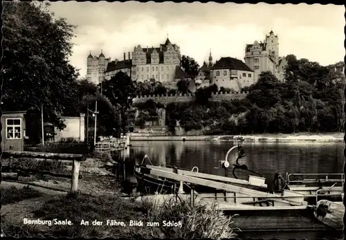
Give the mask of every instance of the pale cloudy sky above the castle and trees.
POLYGON ((294 54, 322 65, 343 61, 345 7, 331 4, 125 3, 106 1, 51 3, 55 17, 77 26, 70 62, 86 76, 86 57, 122 59, 134 46, 158 47, 167 39, 181 55, 200 65, 220 57, 244 62, 246 44, 264 41, 273 30, 279 54, 294 54))

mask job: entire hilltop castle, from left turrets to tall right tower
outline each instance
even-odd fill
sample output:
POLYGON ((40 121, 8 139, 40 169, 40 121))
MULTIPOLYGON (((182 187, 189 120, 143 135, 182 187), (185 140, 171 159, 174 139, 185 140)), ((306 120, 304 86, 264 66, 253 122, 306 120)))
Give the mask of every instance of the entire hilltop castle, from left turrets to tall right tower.
MULTIPOLYGON (((235 91, 239 91, 239 87, 257 82, 258 76, 263 71, 271 71, 278 80, 282 81, 284 79, 284 67, 287 64, 284 57, 279 57, 279 39, 277 35, 274 35, 273 30, 269 35, 266 35, 263 42, 255 41, 253 44, 246 44, 245 64, 233 57, 221 57, 220 60, 224 60, 224 62, 227 60, 227 66, 225 63, 222 64, 222 61, 215 63, 218 65, 213 64, 210 50, 208 64, 206 62, 203 64, 199 69, 199 75, 194 80, 197 88, 215 82, 217 85, 232 87, 235 91), (232 74, 231 71, 233 71, 232 74), (240 75, 236 74, 238 71, 240 75), (238 82, 229 82, 233 80, 238 82)), ((134 81, 144 82, 154 78, 159 82, 163 82, 165 86, 174 87, 178 80, 190 78, 180 66, 180 47, 172 44, 167 37, 165 44, 160 44, 158 47, 142 48, 140 45, 135 46, 132 54, 128 53, 127 59, 125 53, 122 60, 115 59, 115 61, 111 61, 110 57, 105 58, 102 50, 99 57, 93 57, 90 53, 87 58, 86 78, 98 84, 103 80, 111 79, 113 75, 122 71, 127 73, 134 81)))

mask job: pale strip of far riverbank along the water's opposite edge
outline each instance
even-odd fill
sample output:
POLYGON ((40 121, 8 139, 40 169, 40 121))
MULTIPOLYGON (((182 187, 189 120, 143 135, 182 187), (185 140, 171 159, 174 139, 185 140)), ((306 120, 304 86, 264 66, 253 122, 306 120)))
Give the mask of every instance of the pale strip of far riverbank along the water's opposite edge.
POLYGON ((216 141, 230 142, 343 142, 345 133, 292 133, 292 134, 252 134, 224 136, 150 136, 150 134, 131 135, 131 141, 216 141))

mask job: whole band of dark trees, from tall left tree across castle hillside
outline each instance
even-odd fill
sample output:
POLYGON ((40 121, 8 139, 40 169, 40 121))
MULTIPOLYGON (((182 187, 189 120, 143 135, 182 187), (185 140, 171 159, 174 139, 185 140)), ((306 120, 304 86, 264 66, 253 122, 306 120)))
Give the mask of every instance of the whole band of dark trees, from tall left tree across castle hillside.
MULTIPOLYGON (((46 2, 4 2, 3 8, 1 108, 27 111, 26 133, 32 139, 40 136, 42 106, 45 122, 64 129, 61 116, 86 113, 87 108, 95 109, 97 100, 98 135, 118 136, 128 130, 128 118, 136 117, 138 107, 131 101, 136 95, 190 91, 188 80, 169 89, 153 79, 134 82, 122 72, 102 82, 102 87, 80 80, 78 70, 69 64, 76 26, 55 18, 46 2)), ((345 75, 294 55, 286 59, 284 82, 264 72, 255 84, 242 89, 249 92, 245 99, 221 102, 211 102, 211 93, 233 89, 218 89, 215 84, 197 89, 192 102, 165 106, 166 124, 174 131, 178 121, 187 131, 203 129, 205 134, 342 131, 345 75)), ((181 66, 192 77, 198 75, 199 65, 192 57, 183 56, 181 66)), ((157 106, 163 107, 159 102, 140 107, 142 123, 157 106)), ((92 126, 93 117, 89 118, 92 126)))

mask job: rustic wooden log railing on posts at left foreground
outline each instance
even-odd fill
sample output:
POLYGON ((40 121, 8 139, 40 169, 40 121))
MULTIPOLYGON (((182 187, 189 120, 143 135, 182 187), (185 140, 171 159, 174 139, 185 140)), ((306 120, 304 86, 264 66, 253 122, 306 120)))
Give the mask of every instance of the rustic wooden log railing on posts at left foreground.
MULTIPOLYGON (((48 161, 56 160, 70 160, 73 161, 72 167, 72 176, 63 176, 71 177, 71 193, 75 193, 78 190, 78 178, 80 174, 80 162, 86 160, 86 157, 82 154, 54 154, 46 152, 35 152, 35 151, 3 151, 2 158, 10 158, 10 163, 8 169, 12 168, 12 158, 37 158, 39 160, 45 159, 48 161)), ((3 180, 6 178, 18 178, 17 173, 1 173, 3 180)))

